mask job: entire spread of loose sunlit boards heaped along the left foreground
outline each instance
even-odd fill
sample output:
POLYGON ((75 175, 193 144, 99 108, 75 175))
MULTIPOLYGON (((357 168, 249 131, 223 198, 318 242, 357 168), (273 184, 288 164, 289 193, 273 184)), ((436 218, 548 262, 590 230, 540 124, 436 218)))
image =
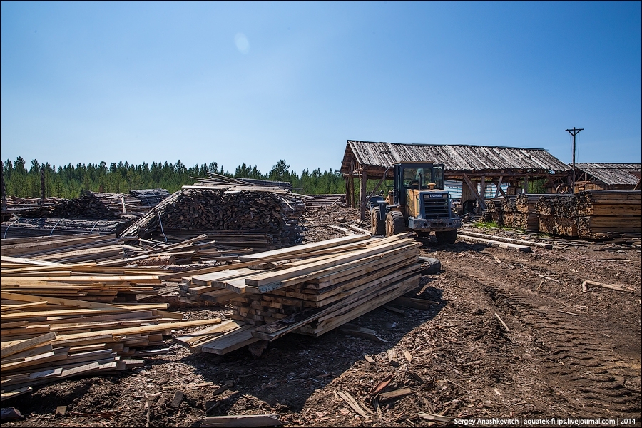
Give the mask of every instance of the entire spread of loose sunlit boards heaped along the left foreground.
MULTIPOLYGON (((43 247, 39 244, 31 245, 32 253, 43 247)), ((62 245, 59 240, 58 244, 62 245)), ((19 248, 2 243, 3 253, 19 248)), ((3 255, 1 399, 78 374, 141 366, 144 361, 138 358, 169 351, 164 336, 172 330, 220 323, 182 322, 183 315, 167 312, 166 303, 113 303, 118 296, 133 296, 135 302, 138 293, 153 294, 162 287, 159 277, 165 273, 3 255)))

